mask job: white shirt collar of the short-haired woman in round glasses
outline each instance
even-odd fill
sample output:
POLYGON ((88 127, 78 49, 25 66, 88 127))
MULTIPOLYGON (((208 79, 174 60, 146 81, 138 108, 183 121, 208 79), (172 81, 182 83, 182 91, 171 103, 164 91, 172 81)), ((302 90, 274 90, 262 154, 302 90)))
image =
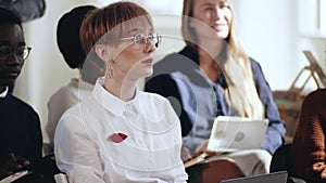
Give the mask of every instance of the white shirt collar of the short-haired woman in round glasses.
POLYGON ((134 106, 133 108, 139 109, 139 91, 136 90, 135 97, 128 102, 124 102, 121 99, 111 94, 108 90, 103 87, 104 77, 100 77, 92 91, 92 96, 96 101, 103 106, 106 110, 111 112, 113 115, 122 116, 123 112, 127 109, 127 106, 134 106))

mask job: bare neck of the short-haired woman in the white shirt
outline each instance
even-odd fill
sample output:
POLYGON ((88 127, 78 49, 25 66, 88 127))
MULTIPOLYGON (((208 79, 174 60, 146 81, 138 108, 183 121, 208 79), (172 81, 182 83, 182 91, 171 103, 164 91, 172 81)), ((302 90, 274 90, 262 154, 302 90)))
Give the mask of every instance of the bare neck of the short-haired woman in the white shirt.
POLYGON ((137 82, 136 81, 128 81, 120 80, 113 78, 109 78, 108 76, 104 79, 103 87, 108 90, 111 94, 115 95, 116 97, 121 99, 122 101, 130 101, 135 97, 137 82))

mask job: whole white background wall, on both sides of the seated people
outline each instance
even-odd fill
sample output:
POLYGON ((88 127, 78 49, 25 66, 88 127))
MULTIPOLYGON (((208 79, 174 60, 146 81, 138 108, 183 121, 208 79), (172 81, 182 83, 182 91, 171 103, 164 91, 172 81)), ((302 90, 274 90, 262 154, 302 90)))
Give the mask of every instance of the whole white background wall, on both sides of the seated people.
MULTIPOLYGON (((153 14, 159 32, 176 38, 163 40, 158 56, 178 51, 180 38, 179 14, 181 0, 134 0, 153 14), (155 3, 154 3, 155 2, 155 3), (162 10, 162 9, 167 10, 162 10), (165 15, 163 15, 165 14, 165 15), (162 18, 163 17, 163 18, 162 18)), ((273 90, 286 90, 298 71, 308 63, 301 50, 310 49, 325 66, 325 39, 302 36, 299 25, 299 2, 304 0, 231 0, 236 26, 244 50, 261 63, 273 90), (300 31, 299 31, 300 30, 300 31)), ((47 101, 77 73, 64 63, 55 42, 55 27, 60 16, 77 4, 106 4, 110 0, 47 0, 43 17, 25 24, 27 44, 33 51, 17 79, 14 94, 32 104, 39 113, 42 128, 47 122, 47 101)), ((304 26, 303 26, 304 27, 304 26)), ((47 141, 47 136, 45 136, 47 141)))

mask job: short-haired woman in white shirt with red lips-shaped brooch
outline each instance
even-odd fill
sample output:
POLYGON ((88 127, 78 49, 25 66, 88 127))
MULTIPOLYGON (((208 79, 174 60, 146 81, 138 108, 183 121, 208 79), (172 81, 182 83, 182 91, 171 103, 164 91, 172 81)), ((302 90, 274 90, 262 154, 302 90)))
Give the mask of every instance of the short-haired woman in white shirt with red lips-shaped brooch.
POLYGON ((152 74, 160 38, 150 14, 129 1, 84 19, 85 64, 101 60, 106 69, 90 97, 68 108, 55 129, 55 160, 68 182, 186 183, 178 117, 166 99, 138 89, 152 74))

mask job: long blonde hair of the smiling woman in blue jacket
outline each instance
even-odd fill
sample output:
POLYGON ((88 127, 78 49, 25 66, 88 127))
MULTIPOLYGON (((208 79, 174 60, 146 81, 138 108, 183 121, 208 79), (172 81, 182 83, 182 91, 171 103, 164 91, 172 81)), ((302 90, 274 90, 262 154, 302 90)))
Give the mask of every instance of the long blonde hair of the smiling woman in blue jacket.
MULTIPOLYGON (((184 0, 181 31, 187 45, 198 50, 198 36, 190 26, 190 21, 193 18, 193 1, 184 0)), ((229 9, 233 14, 230 6, 229 9)), ((217 58, 225 61, 218 62, 223 63, 220 64, 220 67, 228 86, 225 90, 225 96, 236 115, 264 118, 264 107, 254 84, 250 60, 235 34, 234 18, 230 22, 229 35, 225 39, 224 48, 217 58)))

